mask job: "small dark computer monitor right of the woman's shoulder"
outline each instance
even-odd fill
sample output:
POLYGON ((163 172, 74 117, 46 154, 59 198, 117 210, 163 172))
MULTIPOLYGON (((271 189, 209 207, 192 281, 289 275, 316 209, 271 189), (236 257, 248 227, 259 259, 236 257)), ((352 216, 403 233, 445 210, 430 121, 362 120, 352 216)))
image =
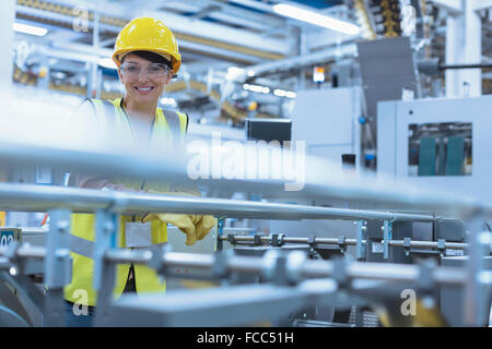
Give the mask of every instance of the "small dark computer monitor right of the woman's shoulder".
POLYGON ((292 120, 289 119, 246 119, 246 139, 248 141, 278 141, 292 140, 292 120))

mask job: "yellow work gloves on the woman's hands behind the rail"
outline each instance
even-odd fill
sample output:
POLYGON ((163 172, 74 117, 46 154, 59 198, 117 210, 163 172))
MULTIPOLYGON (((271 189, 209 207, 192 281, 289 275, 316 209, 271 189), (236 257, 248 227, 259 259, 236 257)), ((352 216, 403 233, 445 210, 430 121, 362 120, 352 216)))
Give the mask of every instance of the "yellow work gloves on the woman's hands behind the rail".
MULTIPOLYGON (((156 192, 152 192, 156 193, 156 192)), ((195 196, 184 192, 169 192, 160 194, 171 194, 176 196, 195 196)), ((184 215, 184 214, 149 214, 142 218, 142 222, 160 219, 163 222, 172 224, 186 233, 186 244, 192 245, 197 240, 202 240, 215 226, 213 216, 184 215)))

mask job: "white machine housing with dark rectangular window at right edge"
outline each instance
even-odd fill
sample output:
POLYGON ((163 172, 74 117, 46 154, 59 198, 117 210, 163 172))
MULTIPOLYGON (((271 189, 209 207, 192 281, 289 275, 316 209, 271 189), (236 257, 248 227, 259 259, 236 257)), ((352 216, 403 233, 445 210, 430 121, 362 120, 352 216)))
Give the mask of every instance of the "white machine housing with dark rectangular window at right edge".
POLYGON ((377 108, 377 172, 415 185, 492 201, 492 96, 382 101, 377 108), (409 125, 471 123, 472 172, 468 176, 409 176, 409 125))

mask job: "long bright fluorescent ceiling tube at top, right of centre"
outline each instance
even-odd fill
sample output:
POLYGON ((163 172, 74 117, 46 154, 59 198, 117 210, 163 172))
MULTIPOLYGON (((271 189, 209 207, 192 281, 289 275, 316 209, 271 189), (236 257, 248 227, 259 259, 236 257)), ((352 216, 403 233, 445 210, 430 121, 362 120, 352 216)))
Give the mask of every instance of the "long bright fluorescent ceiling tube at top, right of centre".
POLYGON ((354 24, 285 3, 278 3, 273 5, 273 11, 288 17, 319 25, 348 35, 356 35, 360 32, 359 26, 354 24))

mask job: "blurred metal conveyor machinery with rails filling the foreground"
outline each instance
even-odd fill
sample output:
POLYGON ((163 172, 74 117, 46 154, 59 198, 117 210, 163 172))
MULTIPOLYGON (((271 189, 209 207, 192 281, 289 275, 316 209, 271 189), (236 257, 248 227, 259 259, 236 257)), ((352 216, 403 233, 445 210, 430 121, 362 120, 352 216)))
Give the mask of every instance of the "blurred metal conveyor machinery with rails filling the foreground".
MULTIPOLYGON (((131 154, 10 144, 0 146, 0 160, 11 167, 48 165, 54 173, 97 168, 108 177, 125 174, 168 181, 186 177, 186 164, 178 157, 159 161, 131 154)), ((375 311, 379 323, 389 326, 489 324, 491 232, 484 221, 492 206, 450 193, 403 190, 401 184, 368 185, 370 179, 354 179, 344 185, 326 177, 308 180, 303 191, 291 194, 377 203, 393 209, 0 183, 0 208, 48 212, 50 216, 45 245, 23 241, 21 228, 0 249, 4 304, 0 308, 1 325, 33 325, 26 311, 31 306, 43 314, 40 325, 65 326, 63 287, 70 282, 72 268, 70 214, 75 212, 96 215, 96 243, 92 251, 94 287, 98 291, 95 326, 350 326, 335 321, 333 313, 353 309, 356 321, 352 325, 358 326, 364 325, 358 309, 375 311), (181 253, 168 245, 118 249, 119 216, 150 212, 218 217, 213 231, 215 252, 181 253), (244 236, 234 230, 227 233, 224 226, 231 217, 351 220, 356 225, 356 238, 298 238, 282 232, 244 236), (409 238, 406 232, 418 222, 431 224, 436 240, 409 238), (351 246, 355 246, 354 257, 348 253, 351 246), (39 263, 43 287, 33 277, 39 263), (147 264, 163 278, 209 280, 216 287, 114 299, 118 263, 147 264), (177 268, 188 273, 177 273, 177 268), (4 285, 14 288, 16 297, 9 296, 4 285)), ((215 193, 218 188, 224 192, 231 188, 236 192, 254 188, 270 192, 270 196, 283 184, 272 180, 223 179, 197 183, 209 185, 215 193)))

